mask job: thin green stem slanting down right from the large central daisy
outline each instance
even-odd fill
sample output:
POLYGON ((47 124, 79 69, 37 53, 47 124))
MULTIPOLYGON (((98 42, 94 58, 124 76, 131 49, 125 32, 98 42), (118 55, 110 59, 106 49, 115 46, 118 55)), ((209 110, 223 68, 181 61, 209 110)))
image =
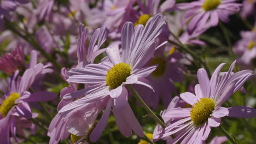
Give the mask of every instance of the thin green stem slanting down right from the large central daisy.
POLYGON ((162 128, 166 128, 166 125, 164 122, 161 121, 158 116, 155 115, 155 113, 150 110, 150 108, 147 106, 147 104, 142 100, 142 98, 139 96, 139 94, 135 91, 135 89, 131 85, 126 85, 127 88, 130 89, 130 91, 133 93, 134 97, 139 101, 139 103, 142 105, 142 107, 148 112, 149 116, 152 117, 157 123, 161 125, 162 128))

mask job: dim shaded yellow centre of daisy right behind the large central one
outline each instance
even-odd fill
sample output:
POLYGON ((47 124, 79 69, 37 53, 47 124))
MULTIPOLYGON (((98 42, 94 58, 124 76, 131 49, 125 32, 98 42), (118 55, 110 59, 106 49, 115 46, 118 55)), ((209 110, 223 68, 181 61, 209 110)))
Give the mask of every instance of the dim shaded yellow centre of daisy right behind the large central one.
POLYGON ((149 65, 155 65, 155 64, 158 64, 158 67, 153 71, 152 75, 155 77, 160 77, 160 76, 164 75, 165 69, 166 69, 165 59, 162 57, 153 58, 150 61, 149 65))

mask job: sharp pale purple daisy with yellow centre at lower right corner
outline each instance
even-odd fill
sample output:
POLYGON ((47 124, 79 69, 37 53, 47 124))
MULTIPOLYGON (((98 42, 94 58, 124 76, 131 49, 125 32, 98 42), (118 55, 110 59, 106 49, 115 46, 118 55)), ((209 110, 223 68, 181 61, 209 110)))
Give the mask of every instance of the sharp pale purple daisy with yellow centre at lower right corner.
MULTIPOLYGON (((235 61, 236 62, 236 61, 235 61)), ((155 140, 169 135, 176 136, 170 143, 202 143, 210 134, 211 127, 220 125, 220 118, 254 117, 256 110, 249 106, 222 107, 221 105, 230 96, 240 89, 248 79, 254 76, 252 70, 242 70, 232 73, 235 62, 229 71, 220 75, 224 63, 214 71, 211 80, 205 69, 197 71, 199 84, 195 86, 195 95, 190 92, 181 94, 181 98, 191 105, 189 108, 174 108, 165 113, 168 118, 178 119, 160 130, 154 137, 155 140)))

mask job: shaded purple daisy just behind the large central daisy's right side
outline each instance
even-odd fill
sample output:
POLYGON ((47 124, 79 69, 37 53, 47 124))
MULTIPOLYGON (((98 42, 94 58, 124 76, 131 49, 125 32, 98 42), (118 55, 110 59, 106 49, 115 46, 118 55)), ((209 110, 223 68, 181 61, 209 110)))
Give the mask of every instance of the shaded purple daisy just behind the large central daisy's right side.
POLYGON ((137 86, 136 90, 153 109, 156 110, 158 108, 160 100, 167 107, 173 98, 172 94, 176 92, 174 82, 182 82, 184 80, 182 73, 184 68, 179 63, 182 58, 183 55, 179 52, 173 52, 166 57, 161 51, 155 52, 155 56, 148 62, 148 65, 158 64, 153 73, 147 77, 155 92, 144 86, 137 86))

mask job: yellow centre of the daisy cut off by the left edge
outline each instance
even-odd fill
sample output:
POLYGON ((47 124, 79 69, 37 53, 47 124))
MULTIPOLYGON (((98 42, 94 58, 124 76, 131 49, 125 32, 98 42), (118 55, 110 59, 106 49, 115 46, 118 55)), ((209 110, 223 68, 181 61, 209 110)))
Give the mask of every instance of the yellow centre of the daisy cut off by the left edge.
POLYGON ((6 98, 2 105, 0 106, 0 113, 6 117, 10 109, 15 106, 15 100, 20 98, 19 93, 11 93, 8 98, 6 98))

